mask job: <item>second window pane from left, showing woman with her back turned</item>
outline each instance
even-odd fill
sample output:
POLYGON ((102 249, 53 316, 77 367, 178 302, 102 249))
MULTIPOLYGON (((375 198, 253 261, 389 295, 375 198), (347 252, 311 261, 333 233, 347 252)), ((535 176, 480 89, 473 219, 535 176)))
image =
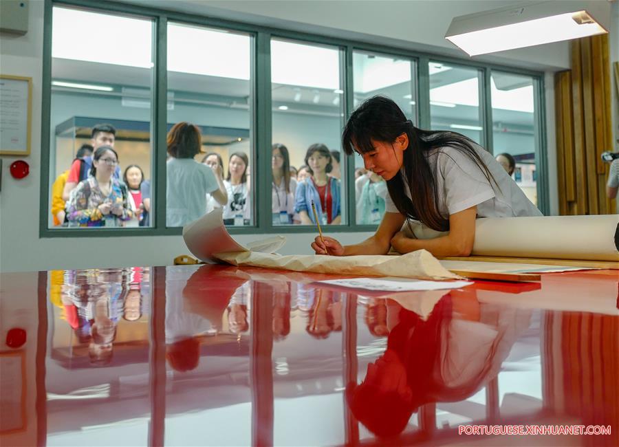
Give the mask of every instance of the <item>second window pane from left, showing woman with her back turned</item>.
POLYGON ((215 208, 226 225, 253 224, 251 45, 248 34, 168 25, 169 227, 215 208))

